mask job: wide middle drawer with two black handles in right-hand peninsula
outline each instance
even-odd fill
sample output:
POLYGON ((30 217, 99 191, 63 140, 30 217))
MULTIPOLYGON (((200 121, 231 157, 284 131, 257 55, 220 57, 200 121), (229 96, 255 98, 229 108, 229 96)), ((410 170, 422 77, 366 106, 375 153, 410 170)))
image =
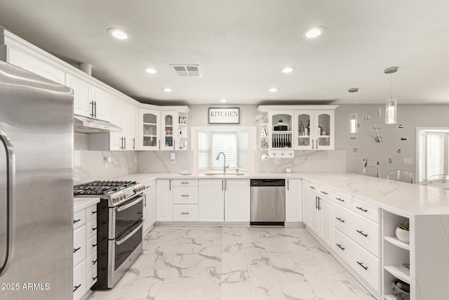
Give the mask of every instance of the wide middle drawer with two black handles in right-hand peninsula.
POLYGON ((334 207, 334 226, 363 248, 379 257, 380 226, 342 207, 334 207))

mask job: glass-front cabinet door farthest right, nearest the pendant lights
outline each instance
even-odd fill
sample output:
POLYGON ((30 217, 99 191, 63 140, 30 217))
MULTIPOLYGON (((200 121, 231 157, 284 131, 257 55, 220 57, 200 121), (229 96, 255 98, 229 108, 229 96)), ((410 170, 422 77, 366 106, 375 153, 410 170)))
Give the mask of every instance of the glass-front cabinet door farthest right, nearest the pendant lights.
POLYGON ((315 143, 317 150, 334 149, 334 110, 315 111, 315 143))

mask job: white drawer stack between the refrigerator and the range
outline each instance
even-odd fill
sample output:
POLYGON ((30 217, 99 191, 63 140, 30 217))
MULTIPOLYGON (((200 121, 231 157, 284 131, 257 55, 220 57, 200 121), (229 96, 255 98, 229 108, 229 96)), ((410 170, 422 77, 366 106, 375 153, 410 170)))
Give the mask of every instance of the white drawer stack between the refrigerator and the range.
POLYGON ((74 213, 73 299, 84 298, 97 282, 97 205, 74 213))

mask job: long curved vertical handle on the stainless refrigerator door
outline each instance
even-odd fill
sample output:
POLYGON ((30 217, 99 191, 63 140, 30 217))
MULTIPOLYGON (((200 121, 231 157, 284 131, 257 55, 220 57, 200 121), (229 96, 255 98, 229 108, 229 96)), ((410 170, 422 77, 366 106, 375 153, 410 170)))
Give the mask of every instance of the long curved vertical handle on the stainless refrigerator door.
POLYGON ((7 198, 7 211, 6 211, 6 256, 5 261, 0 266, 0 277, 3 275, 13 261, 14 255, 14 236, 15 236, 15 155, 14 147, 11 140, 6 136, 4 131, 0 130, 0 140, 3 143, 6 150, 6 198, 7 198))

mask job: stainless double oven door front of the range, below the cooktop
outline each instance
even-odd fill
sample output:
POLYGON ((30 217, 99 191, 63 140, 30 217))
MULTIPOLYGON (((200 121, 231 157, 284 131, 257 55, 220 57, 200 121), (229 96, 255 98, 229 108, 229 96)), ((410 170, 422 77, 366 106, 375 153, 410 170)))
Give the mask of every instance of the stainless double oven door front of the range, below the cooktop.
POLYGON ((108 288, 113 287, 142 254, 143 195, 109 207, 108 288))

